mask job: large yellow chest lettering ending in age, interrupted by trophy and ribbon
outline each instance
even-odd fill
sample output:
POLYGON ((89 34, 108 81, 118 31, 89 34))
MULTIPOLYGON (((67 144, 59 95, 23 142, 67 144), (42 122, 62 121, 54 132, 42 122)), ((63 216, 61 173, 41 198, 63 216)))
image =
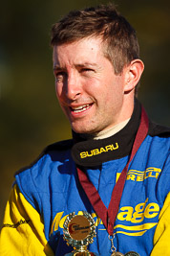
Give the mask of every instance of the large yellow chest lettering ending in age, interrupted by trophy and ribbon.
MULTIPOLYGON (((63 229, 64 221, 67 218, 63 216, 64 212, 59 212, 53 219, 51 234, 58 229, 63 229)), ((82 212, 79 211, 78 215, 82 212)), ((156 202, 148 203, 148 198, 144 202, 140 202, 134 207, 120 207, 117 214, 119 223, 114 227, 115 233, 125 234, 127 236, 142 236, 145 232, 157 225, 155 219, 159 215, 159 204, 156 202)), ((96 221, 98 231, 105 230, 103 222, 97 217, 96 213, 92 213, 92 217, 96 221)))

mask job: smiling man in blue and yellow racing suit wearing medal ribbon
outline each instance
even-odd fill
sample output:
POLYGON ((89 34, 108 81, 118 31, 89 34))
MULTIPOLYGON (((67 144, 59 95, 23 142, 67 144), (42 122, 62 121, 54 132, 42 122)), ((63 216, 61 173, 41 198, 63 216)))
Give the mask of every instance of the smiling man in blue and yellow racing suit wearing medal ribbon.
POLYGON ((1 255, 71 252, 63 224, 82 211, 96 221, 96 255, 170 255, 170 129, 148 121, 136 99, 144 66, 135 30, 113 5, 99 6, 54 24, 52 46, 73 140, 15 175, 1 255))

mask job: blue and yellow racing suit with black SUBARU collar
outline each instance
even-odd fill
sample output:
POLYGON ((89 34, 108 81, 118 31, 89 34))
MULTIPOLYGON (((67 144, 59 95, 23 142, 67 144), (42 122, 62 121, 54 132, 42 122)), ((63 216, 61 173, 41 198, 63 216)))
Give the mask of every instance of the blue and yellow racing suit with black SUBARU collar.
MULTIPOLYGON (((133 115, 117 134, 101 140, 73 139, 46 148, 28 168, 15 175, 1 231, 0 255, 58 255, 73 248, 63 240, 63 223, 75 212, 89 212, 96 238, 89 250, 109 256, 111 242, 79 183, 81 166, 108 207, 113 188, 132 150, 140 121, 133 115)), ((170 129, 151 121, 130 162, 114 228, 117 251, 140 256, 170 255, 170 129)))

